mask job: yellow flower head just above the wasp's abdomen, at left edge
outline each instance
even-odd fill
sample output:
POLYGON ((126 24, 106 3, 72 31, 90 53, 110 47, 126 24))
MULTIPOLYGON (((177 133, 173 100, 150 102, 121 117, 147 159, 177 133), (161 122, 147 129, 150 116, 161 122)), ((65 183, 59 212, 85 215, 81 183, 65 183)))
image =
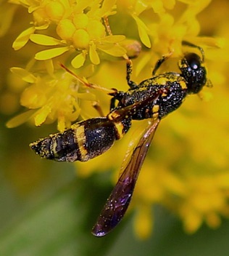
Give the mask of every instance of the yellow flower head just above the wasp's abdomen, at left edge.
POLYGON ((63 131, 78 119, 81 99, 96 101, 94 95, 80 89, 78 84, 72 82, 72 76, 63 70, 46 76, 35 76, 22 68, 12 68, 12 72, 31 84, 21 95, 21 105, 30 111, 8 121, 8 127, 15 127, 33 118, 36 126, 57 120, 57 128, 63 131))

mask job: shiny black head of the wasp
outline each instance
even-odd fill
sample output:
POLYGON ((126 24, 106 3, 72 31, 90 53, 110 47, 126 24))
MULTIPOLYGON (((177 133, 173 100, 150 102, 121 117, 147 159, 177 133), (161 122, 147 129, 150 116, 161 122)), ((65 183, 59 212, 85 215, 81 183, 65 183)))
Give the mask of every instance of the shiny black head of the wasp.
POLYGON ((207 71, 199 55, 186 54, 179 62, 183 78, 186 79, 188 93, 198 93, 207 82, 207 71))

